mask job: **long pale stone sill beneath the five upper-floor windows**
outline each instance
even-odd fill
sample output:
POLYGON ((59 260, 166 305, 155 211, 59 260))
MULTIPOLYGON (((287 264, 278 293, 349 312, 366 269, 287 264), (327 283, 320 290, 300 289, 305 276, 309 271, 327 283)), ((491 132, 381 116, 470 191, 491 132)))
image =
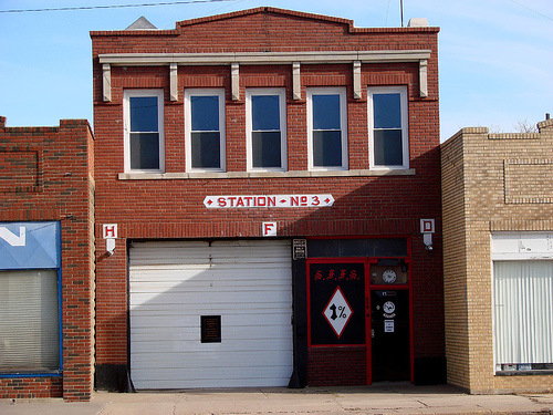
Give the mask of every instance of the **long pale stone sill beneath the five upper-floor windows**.
POLYGON ((415 169, 386 170, 294 170, 294 172, 227 172, 227 173, 119 173, 119 180, 181 180, 232 178, 299 178, 299 177, 372 177, 415 176, 415 169))

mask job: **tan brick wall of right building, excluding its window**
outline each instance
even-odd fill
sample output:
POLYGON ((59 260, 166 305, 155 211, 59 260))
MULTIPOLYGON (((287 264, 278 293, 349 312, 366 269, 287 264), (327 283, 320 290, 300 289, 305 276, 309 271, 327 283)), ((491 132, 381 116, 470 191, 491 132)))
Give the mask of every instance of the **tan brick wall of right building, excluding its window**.
POLYGON ((441 145, 448 381, 472 393, 553 390, 553 376, 495 376, 492 231, 553 230, 553 122, 540 133, 462 128, 441 145))

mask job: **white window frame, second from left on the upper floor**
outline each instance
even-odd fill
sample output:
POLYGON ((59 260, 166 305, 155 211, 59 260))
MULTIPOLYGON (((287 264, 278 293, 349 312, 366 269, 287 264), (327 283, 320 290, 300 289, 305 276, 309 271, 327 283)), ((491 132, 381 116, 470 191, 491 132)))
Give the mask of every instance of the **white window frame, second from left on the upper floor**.
POLYGON ((227 144, 226 144, 226 116, 225 116, 225 89, 187 89, 185 90, 185 151, 186 151, 186 170, 187 172, 226 172, 227 170, 227 144), (192 96, 213 96, 219 97, 219 145, 220 160, 219 168, 194 168, 192 167, 192 96))

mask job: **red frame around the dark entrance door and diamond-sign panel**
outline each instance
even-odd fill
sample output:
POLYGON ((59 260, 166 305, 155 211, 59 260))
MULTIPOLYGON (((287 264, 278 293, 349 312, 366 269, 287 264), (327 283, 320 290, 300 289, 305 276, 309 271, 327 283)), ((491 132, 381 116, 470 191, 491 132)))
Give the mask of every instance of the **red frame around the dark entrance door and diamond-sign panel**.
MULTIPOLYGON (((371 292, 373 290, 408 290, 409 294, 409 381, 415 383, 415 354, 414 354, 414 330, 413 330, 413 267, 410 258, 410 246, 408 247, 408 257, 335 257, 335 258, 310 258, 306 259, 306 282, 307 282, 307 347, 340 347, 348 344, 328 344, 328 345, 312 345, 311 344, 311 264, 312 263, 363 263, 365 278, 365 349, 366 349, 366 366, 367 366, 367 385, 373 383, 373 364, 372 364, 372 315, 371 315, 371 292), (407 284, 372 284, 371 283, 371 264, 376 264, 379 259, 403 259, 409 264, 407 273, 407 284)), ((358 345, 358 344, 351 344, 358 345)))

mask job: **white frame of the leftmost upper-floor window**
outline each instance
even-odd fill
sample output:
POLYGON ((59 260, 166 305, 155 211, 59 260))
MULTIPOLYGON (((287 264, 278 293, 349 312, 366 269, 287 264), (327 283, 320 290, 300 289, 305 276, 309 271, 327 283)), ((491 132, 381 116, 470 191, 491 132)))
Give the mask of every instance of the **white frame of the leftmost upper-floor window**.
POLYGON ((164 90, 125 90, 123 92, 123 152, 125 173, 165 173, 164 90), (159 134, 159 169, 131 168, 131 97, 157 97, 157 126, 159 134))

